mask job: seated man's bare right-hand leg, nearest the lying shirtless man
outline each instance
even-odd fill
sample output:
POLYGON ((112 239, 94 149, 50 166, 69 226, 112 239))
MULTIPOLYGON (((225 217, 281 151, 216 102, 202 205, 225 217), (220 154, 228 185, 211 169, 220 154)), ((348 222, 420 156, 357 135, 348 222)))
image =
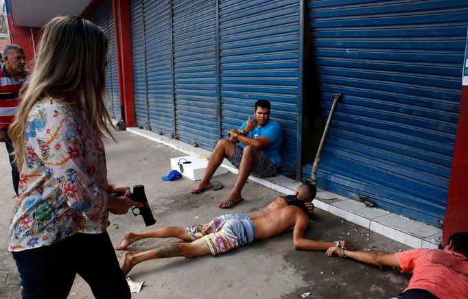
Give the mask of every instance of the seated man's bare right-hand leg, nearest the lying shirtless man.
POLYGON ((253 170, 255 161, 259 158, 260 150, 257 147, 246 145, 244 147, 244 152, 242 154, 242 160, 239 164, 239 174, 237 174, 237 179, 231 193, 224 198, 224 200, 219 204, 220 208, 231 208, 235 204, 242 202, 244 200, 241 195, 242 188, 247 182, 248 176, 253 170))

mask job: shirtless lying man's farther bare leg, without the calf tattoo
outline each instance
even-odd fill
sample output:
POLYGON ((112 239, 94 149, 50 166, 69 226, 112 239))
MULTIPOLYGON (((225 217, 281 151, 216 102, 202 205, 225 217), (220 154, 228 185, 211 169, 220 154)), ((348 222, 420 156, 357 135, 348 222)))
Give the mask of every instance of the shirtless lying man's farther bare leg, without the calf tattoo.
POLYGON ((134 241, 138 241, 146 238, 178 238, 183 239, 184 241, 191 241, 189 235, 187 234, 186 228, 181 228, 179 226, 166 226, 163 228, 156 228, 155 230, 149 230, 148 232, 126 232, 124 239, 119 243, 119 246, 115 248, 116 250, 124 250, 134 241))

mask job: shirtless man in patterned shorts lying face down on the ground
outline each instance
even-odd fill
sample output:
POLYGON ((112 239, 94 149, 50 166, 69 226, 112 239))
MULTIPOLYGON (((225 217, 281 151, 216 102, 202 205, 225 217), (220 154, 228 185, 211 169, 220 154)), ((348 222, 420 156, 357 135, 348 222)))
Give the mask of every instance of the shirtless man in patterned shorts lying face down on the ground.
POLYGON ((351 250, 345 241, 323 242, 305 239, 305 229, 309 225, 308 213, 312 213, 311 203, 316 194, 312 184, 301 184, 294 195, 279 196, 264 211, 252 216, 227 214, 215 217, 209 224, 188 228, 167 226, 148 232, 126 232, 117 250, 124 250, 134 241, 145 238, 176 237, 190 243, 169 243, 145 252, 124 252, 121 269, 128 274, 132 267, 149 259, 163 259, 185 256, 187 259, 207 254, 220 254, 228 250, 252 243, 255 239, 267 239, 292 230, 294 248, 299 250, 327 250, 338 243, 351 250))

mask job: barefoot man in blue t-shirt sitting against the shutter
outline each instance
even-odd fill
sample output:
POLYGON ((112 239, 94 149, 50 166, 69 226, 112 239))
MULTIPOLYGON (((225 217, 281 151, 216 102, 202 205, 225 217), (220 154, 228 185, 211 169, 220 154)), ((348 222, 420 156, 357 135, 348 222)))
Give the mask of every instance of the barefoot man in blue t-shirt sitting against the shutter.
POLYGON ((220 208, 231 208, 244 200, 241 191, 250 174, 258 178, 276 176, 281 165, 283 133, 279 123, 270 119, 270 110, 269 101, 260 99, 255 102, 255 119, 248 117, 239 129, 229 131, 229 140, 218 141, 209 158, 204 177, 191 193, 196 194, 211 188, 211 177, 224 158, 239 169, 239 174, 231 193, 219 204, 220 208))

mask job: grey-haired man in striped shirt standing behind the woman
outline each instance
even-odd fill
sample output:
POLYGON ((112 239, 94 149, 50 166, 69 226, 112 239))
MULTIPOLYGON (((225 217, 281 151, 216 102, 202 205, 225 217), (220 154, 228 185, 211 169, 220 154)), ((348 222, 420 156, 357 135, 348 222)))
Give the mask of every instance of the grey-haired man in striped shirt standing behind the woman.
MULTIPOLYGON (((8 138, 8 127, 16 115, 19 105, 18 93, 25 82, 25 53, 19 45, 7 45, 3 48, 5 66, 0 71, 0 142, 4 142, 8 154, 13 152, 13 146, 8 138)), ((12 180, 14 192, 18 194, 19 172, 14 157, 10 155, 12 165, 12 180)))

